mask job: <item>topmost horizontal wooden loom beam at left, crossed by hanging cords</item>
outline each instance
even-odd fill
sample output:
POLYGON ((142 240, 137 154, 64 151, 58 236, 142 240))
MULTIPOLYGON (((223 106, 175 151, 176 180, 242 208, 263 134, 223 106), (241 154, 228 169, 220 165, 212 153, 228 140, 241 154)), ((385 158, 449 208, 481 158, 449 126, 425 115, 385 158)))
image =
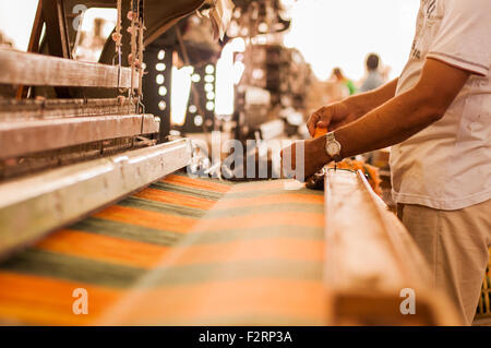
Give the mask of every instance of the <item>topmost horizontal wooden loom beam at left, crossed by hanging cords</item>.
POLYGON ((120 85, 118 74, 118 67, 0 48, 0 84, 130 88, 131 69, 121 68, 120 85))

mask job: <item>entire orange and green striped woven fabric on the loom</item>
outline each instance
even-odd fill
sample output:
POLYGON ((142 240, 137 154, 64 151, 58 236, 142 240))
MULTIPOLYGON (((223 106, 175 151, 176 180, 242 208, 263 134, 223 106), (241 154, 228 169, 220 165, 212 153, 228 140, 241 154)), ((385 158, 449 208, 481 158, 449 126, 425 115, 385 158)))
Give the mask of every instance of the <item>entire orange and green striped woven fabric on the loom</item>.
POLYGON ((172 175, 1 263, 0 322, 321 325, 323 216, 291 181, 172 175))

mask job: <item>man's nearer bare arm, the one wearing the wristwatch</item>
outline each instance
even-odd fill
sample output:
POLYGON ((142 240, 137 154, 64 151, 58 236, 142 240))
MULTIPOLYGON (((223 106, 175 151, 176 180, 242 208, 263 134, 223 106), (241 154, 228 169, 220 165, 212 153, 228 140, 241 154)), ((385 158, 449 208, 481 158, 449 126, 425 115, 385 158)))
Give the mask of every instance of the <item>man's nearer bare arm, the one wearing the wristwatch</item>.
MULTIPOLYGON (((350 157, 398 144, 436 122, 445 115, 469 75, 466 70, 428 59, 414 88, 335 131, 342 144, 342 156, 350 157)), ((304 148, 306 177, 332 160, 324 149, 325 136, 307 141, 304 148)))

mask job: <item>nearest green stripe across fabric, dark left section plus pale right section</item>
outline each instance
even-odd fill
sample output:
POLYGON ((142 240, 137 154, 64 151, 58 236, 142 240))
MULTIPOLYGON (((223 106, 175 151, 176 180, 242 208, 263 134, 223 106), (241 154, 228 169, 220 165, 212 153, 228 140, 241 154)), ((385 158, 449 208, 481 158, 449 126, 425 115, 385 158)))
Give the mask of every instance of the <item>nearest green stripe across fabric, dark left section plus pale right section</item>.
POLYGON ((238 263, 163 266, 153 271, 28 249, 0 264, 4 272, 29 274, 112 288, 199 284, 254 278, 322 279, 322 262, 256 260, 238 263))

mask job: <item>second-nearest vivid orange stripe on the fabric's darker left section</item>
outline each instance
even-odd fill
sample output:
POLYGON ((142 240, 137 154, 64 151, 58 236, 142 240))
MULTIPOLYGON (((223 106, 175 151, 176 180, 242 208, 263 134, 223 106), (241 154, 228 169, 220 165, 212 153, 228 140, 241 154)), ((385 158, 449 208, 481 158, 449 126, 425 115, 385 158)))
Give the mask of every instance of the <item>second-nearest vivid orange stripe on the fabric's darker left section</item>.
POLYGON ((167 247, 69 229, 48 236, 35 248, 144 268, 161 263, 169 251, 167 247))

